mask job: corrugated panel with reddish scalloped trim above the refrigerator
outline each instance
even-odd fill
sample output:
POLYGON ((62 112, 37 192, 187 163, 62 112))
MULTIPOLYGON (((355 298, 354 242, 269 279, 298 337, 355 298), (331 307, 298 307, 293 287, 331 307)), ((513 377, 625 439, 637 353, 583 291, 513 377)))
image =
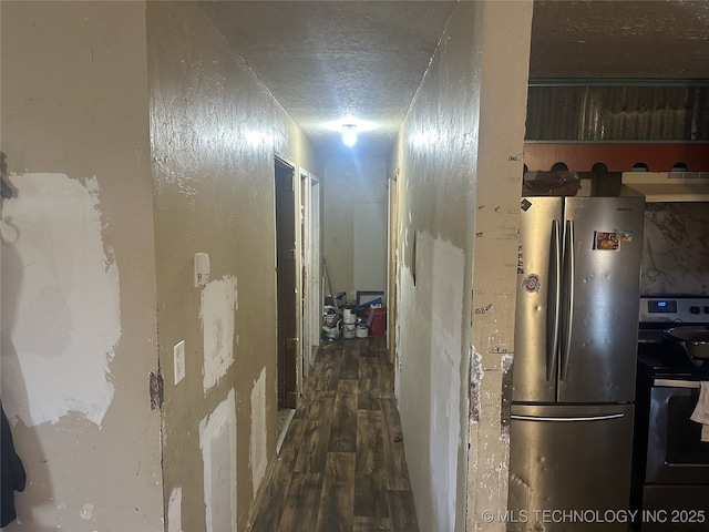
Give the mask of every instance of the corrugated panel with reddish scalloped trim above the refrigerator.
POLYGON ((530 171, 709 172, 709 81, 533 81, 524 163, 530 171))

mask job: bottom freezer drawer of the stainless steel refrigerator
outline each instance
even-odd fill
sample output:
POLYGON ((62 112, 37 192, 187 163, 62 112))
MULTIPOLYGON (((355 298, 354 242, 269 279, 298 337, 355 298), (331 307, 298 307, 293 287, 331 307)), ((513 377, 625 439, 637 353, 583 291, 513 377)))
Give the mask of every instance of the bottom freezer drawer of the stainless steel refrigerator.
POLYGON ((512 406, 507 530, 627 531, 634 407, 512 406))

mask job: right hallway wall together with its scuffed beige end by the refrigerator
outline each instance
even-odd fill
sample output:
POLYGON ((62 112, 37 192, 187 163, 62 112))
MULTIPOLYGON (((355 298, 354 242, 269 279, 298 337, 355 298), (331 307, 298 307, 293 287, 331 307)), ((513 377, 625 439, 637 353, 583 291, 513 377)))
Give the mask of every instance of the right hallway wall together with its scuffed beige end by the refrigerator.
POLYGON ((513 349, 531 8, 455 7, 391 163, 397 395, 422 530, 504 530, 482 512, 506 508, 502 381, 513 349))

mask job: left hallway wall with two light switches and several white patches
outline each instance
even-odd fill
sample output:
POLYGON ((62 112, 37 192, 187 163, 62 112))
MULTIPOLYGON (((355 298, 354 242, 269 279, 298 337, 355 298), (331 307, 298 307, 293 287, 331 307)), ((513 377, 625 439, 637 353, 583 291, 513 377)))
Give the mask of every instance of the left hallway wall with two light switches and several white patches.
MULTIPOLYGON (((276 457, 274 157, 319 168, 300 131, 229 49, 209 19, 210 7, 218 8, 147 3, 157 319, 166 376, 174 374, 174 347, 184 341, 185 351, 184 378, 176 385, 165 379, 163 463, 165 498, 182 489, 183 530, 219 530, 226 502, 207 502, 223 493, 213 485, 216 472, 203 464, 199 426, 233 395, 238 431, 229 519, 240 531, 255 484, 276 457), (193 280, 196 253, 209 255, 212 280, 202 287, 193 280), (255 442, 260 448, 253 453, 255 442)), ((299 272, 299 262, 295 267, 299 272)), ((226 459, 220 434, 208 463, 226 459)))

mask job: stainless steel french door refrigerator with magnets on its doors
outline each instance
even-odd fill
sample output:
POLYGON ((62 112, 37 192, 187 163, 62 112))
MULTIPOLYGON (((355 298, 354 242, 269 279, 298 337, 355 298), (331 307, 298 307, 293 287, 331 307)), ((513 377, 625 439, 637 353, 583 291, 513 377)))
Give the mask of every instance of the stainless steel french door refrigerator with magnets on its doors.
POLYGON ((522 200, 507 530, 628 530, 645 198, 625 194, 522 200))

